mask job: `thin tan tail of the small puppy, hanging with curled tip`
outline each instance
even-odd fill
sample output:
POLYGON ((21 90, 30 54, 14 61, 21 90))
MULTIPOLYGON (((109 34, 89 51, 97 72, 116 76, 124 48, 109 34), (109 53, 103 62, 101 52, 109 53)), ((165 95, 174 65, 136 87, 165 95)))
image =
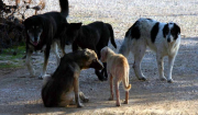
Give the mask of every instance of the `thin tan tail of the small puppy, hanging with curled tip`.
POLYGON ((124 68, 124 77, 122 78, 123 89, 129 91, 131 89, 131 84, 129 83, 129 68, 124 68))

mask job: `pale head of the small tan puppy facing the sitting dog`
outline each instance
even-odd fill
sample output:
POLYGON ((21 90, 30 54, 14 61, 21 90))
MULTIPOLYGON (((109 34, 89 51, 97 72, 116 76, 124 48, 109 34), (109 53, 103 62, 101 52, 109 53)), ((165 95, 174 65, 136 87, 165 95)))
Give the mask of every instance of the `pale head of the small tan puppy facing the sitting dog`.
POLYGON ((103 47, 103 48, 100 50, 100 55, 101 55, 100 60, 101 60, 102 62, 107 62, 108 54, 113 54, 113 50, 110 49, 108 46, 103 47))

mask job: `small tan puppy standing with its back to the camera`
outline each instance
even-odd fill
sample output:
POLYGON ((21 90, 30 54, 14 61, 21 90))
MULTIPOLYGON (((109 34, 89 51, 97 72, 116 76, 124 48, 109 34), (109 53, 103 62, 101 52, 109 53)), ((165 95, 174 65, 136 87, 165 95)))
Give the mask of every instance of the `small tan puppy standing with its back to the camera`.
POLYGON ((128 59, 120 54, 114 54, 109 47, 105 47, 100 51, 101 61, 107 62, 107 72, 110 78, 110 101, 113 100, 113 78, 114 78, 114 89, 117 94, 117 106, 120 106, 120 93, 119 93, 119 84, 122 81, 123 89, 125 90, 125 102, 128 104, 129 100, 129 90, 131 89, 131 84, 129 84, 129 64, 128 59))

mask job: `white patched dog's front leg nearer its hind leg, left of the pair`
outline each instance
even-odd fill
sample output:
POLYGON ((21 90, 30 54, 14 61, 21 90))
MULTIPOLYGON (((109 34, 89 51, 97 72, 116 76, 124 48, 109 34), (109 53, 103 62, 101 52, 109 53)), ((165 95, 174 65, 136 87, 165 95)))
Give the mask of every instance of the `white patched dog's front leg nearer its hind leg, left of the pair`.
POLYGON ((162 81, 165 81, 166 78, 164 77, 164 57, 161 54, 156 54, 156 60, 157 60, 157 67, 158 67, 158 73, 160 73, 160 79, 162 81))

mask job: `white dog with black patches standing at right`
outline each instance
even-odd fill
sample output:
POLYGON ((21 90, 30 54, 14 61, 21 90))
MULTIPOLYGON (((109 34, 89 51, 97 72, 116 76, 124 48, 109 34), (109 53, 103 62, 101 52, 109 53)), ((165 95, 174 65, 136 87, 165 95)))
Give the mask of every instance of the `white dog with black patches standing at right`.
POLYGON ((146 80, 141 71, 141 61, 148 46, 156 53, 160 79, 164 77, 164 56, 168 56, 167 82, 173 82, 172 70, 180 44, 180 27, 176 23, 162 23, 152 19, 139 19, 125 33, 119 53, 134 56, 134 72, 139 80, 146 80))

